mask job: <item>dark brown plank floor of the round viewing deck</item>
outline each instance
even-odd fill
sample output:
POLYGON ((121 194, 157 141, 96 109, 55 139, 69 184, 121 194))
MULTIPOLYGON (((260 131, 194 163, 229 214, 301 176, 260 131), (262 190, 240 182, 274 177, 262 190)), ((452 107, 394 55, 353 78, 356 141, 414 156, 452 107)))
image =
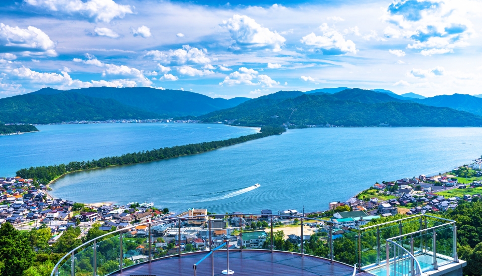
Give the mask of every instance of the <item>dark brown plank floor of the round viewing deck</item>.
MULTIPOLYGON (((154 260, 125 268, 115 276, 134 275, 193 275, 193 264, 205 256, 206 252, 182 255, 180 258, 173 256, 154 260)), ((211 275, 211 257, 207 257, 197 267, 197 276, 211 275)), ((221 270, 226 269, 225 251, 214 253, 214 275, 222 275, 221 270)), ((234 275, 303 275, 303 276, 351 276, 353 267, 312 256, 303 256, 289 252, 274 252, 261 250, 229 251, 229 269, 234 270, 234 275)), ((367 272, 358 276, 372 275, 367 272)))

